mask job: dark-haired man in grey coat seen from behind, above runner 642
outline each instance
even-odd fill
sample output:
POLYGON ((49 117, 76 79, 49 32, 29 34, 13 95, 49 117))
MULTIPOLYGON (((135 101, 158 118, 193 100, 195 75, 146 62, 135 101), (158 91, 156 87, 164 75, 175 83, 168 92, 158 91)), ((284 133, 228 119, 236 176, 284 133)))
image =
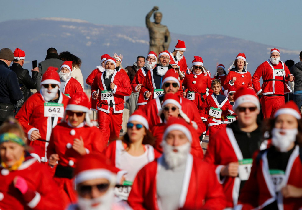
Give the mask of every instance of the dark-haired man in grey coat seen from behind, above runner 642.
POLYGON ((41 77, 45 73, 48 67, 53 66, 58 68, 58 73, 60 71, 60 67, 62 66, 64 61, 60 60, 58 57, 58 52, 56 48, 48 48, 47 55, 45 58, 45 61, 41 61, 38 65, 39 67, 39 74, 38 74, 38 84, 37 84, 37 91, 40 91, 40 83, 41 83, 41 77))

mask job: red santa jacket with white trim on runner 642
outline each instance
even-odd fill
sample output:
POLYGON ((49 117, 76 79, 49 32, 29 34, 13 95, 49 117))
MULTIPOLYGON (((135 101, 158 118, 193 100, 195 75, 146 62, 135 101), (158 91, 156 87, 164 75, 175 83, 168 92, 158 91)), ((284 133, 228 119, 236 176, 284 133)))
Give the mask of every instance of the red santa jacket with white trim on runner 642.
MULTIPOLYGON (((60 92, 58 103, 64 104, 64 110, 68 100, 69 98, 60 92)), ((54 117, 52 123, 51 117, 44 117, 44 103, 46 103, 46 101, 44 100, 43 95, 41 95, 40 92, 35 93, 25 101, 20 111, 17 113, 16 119, 27 134, 27 142, 29 145, 40 147, 41 153, 38 155, 41 157, 41 161, 47 162, 46 148, 48 146, 51 131, 57 123, 61 122, 62 118, 54 117), (30 141, 31 133, 34 130, 37 130, 41 134, 41 139, 30 141)), ((60 110, 60 112, 64 113, 64 110, 60 110)))

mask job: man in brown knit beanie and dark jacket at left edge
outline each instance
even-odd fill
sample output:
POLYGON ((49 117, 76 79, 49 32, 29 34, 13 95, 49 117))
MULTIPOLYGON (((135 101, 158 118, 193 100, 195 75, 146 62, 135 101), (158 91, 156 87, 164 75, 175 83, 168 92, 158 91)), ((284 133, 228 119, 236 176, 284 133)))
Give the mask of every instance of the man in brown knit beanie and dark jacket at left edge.
POLYGON ((9 69, 14 54, 9 48, 0 50, 0 125, 14 115, 14 105, 22 99, 17 75, 9 69))

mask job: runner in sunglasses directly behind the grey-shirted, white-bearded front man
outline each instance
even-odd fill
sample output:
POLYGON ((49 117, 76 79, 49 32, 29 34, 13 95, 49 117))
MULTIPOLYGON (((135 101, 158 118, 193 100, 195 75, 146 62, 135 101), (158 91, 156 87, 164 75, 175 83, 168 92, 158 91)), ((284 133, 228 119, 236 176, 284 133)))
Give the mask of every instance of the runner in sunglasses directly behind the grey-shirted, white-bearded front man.
POLYGON ((154 149, 162 153, 162 135, 165 131, 166 123, 170 117, 179 117, 183 118, 187 123, 194 127, 194 132, 192 133, 192 144, 191 144, 191 154, 199 157, 200 159, 204 158, 203 150, 199 143, 199 136, 205 130, 203 126, 202 131, 198 131, 198 126, 194 121, 191 121, 190 118, 182 111, 181 99, 178 94, 167 93, 164 96, 162 102, 162 109, 159 111, 159 116, 162 120, 162 123, 156 125, 152 129, 153 136, 155 138, 154 149))

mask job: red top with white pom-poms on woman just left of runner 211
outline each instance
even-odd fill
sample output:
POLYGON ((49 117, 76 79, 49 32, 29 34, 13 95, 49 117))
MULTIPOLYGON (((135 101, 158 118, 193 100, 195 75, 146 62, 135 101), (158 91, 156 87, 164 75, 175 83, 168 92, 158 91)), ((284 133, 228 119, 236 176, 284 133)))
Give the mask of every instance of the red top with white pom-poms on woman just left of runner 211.
POLYGON ((230 86, 235 86, 238 89, 241 86, 252 87, 252 76, 248 71, 230 71, 223 83, 223 89, 229 90, 230 86), (233 77, 236 77, 234 84, 231 84, 233 77))

